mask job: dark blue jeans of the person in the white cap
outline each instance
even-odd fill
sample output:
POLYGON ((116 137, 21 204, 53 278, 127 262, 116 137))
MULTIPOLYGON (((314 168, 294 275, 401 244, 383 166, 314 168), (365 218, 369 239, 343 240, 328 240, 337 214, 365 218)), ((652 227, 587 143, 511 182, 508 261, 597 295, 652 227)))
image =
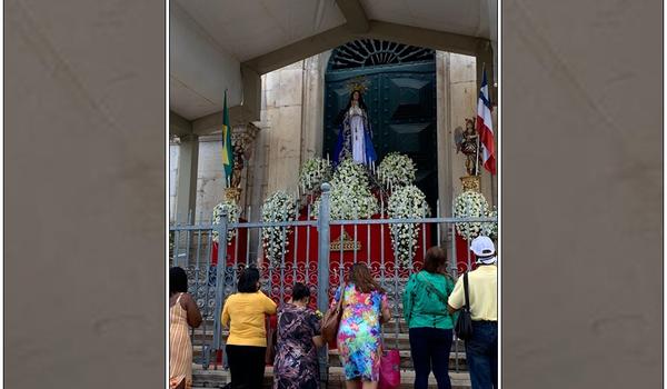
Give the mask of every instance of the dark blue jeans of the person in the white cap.
POLYGON ((472 321, 466 357, 472 389, 498 388, 498 322, 472 321))

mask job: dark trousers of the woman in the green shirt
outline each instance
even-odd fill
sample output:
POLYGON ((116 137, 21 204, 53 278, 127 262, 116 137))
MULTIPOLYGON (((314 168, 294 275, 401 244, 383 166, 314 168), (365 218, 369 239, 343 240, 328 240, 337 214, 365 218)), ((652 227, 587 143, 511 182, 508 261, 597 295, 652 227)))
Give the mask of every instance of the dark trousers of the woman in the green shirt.
POLYGON ((428 388, 428 375, 434 370, 438 389, 451 389, 449 350, 452 330, 410 328, 410 355, 415 365, 415 389, 428 388))

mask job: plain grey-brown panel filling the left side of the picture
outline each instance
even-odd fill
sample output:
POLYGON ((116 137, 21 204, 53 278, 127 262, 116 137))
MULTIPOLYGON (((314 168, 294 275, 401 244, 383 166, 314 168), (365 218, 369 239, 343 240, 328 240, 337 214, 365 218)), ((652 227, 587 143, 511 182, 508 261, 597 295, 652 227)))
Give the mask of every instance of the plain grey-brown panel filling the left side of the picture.
POLYGON ((4 387, 165 382, 163 1, 4 2, 4 387))

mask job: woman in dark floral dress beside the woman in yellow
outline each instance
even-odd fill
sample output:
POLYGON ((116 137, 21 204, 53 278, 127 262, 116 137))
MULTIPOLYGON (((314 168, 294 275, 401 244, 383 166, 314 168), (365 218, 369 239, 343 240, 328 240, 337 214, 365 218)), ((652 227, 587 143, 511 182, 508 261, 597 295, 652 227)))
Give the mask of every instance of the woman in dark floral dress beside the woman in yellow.
POLYGON ((317 347, 320 318, 308 308, 310 290, 297 282, 292 300, 278 310, 278 341, 273 362, 273 389, 318 389, 317 347))

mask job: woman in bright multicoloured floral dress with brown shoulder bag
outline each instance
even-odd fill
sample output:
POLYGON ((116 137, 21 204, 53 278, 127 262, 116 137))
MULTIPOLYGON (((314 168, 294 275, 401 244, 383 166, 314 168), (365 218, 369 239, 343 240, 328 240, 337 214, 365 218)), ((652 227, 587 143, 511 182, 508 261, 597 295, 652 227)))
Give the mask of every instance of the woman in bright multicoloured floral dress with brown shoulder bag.
POLYGON ((341 297, 342 317, 336 340, 346 387, 375 389, 380 377, 380 325, 391 319, 387 295, 366 265, 355 263, 345 291, 336 291, 331 309, 341 297))

